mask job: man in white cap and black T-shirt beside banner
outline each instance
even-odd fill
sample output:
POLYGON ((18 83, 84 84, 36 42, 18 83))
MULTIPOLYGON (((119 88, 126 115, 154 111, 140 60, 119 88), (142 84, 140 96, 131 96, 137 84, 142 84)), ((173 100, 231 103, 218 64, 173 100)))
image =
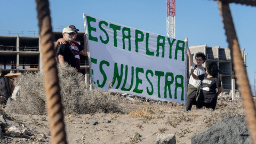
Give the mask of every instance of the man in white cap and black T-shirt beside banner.
POLYGON ((63 28, 62 30, 63 39, 65 39, 66 44, 57 45, 57 60, 60 62, 60 65, 63 66, 65 62, 68 63, 71 67, 76 68, 77 62, 75 55, 71 50, 70 42, 73 40, 75 31, 72 28, 63 28))

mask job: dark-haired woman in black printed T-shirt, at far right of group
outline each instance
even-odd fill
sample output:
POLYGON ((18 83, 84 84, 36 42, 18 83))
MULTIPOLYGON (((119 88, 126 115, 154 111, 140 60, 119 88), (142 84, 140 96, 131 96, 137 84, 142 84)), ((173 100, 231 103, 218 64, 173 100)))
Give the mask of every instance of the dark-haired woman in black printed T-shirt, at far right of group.
POLYGON ((197 76, 194 74, 194 70, 191 69, 190 73, 194 79, 201 81, 201 91, 197 101, 197 108, 205 106, 214 110, 217 105, 218 95, 222 92, 221 82, 217 77, 219 73, 217 63, 213 61, 207 62, 205 72, 205 74, 197 76))

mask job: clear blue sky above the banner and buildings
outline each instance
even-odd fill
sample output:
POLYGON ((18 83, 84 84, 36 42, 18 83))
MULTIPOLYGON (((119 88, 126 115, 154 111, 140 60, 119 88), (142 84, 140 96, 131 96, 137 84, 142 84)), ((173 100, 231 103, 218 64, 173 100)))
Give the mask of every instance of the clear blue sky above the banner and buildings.
MULTIPOLYGON (((38 31, 35 1, 1 1, 0 35, 12 33, 31 33, 38 31)), ((256 48, 256 7, 230 4, 236 33, 241 49, 247 55, 247 74, 254 84, 255 48, 256 48)), ((166 35, 166 1, 146 0, 50 0, 53 31, 62 31, 63 27, 75 25, 84 31, 83 13, 97 18, 116 22, 121 25, 142 29, 159 35, 166 35)), ((217 2, 206 0, 176 1, 176 38, 189 38, 189 46, 207 44, 207 46, 228 47, 225 30, 219 14, 217 2)), ((17 35, 17 34, 16 34, 17 35)))

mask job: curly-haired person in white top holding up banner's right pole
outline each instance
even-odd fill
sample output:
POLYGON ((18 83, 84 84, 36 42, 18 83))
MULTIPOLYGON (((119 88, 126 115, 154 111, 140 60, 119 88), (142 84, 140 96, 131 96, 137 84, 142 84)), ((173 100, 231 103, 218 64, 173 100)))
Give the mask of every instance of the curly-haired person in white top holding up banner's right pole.
MULTIPOLYGON (((188 43, 188 38, 185 39, 185 42, 188 43)), ((202 66, 206 60, 205 54, 202 52, 196 53, 195 55, 196 65, 195 65, 195 63, 193 62, 193 57, 189 50, 189 47, 187 52, 188 52, 189 72, 191 69, 194 69, 195 75, 205 74, 205 68, 202 66)), ((200 91, 200 84, 201 84, 200 80, 196 80, 193 77, 189 78, 188 91, 187 91, 187 107, 186 107, 187 110, 191 110, 192 106, 196 105, 197 98, 200 91)))

